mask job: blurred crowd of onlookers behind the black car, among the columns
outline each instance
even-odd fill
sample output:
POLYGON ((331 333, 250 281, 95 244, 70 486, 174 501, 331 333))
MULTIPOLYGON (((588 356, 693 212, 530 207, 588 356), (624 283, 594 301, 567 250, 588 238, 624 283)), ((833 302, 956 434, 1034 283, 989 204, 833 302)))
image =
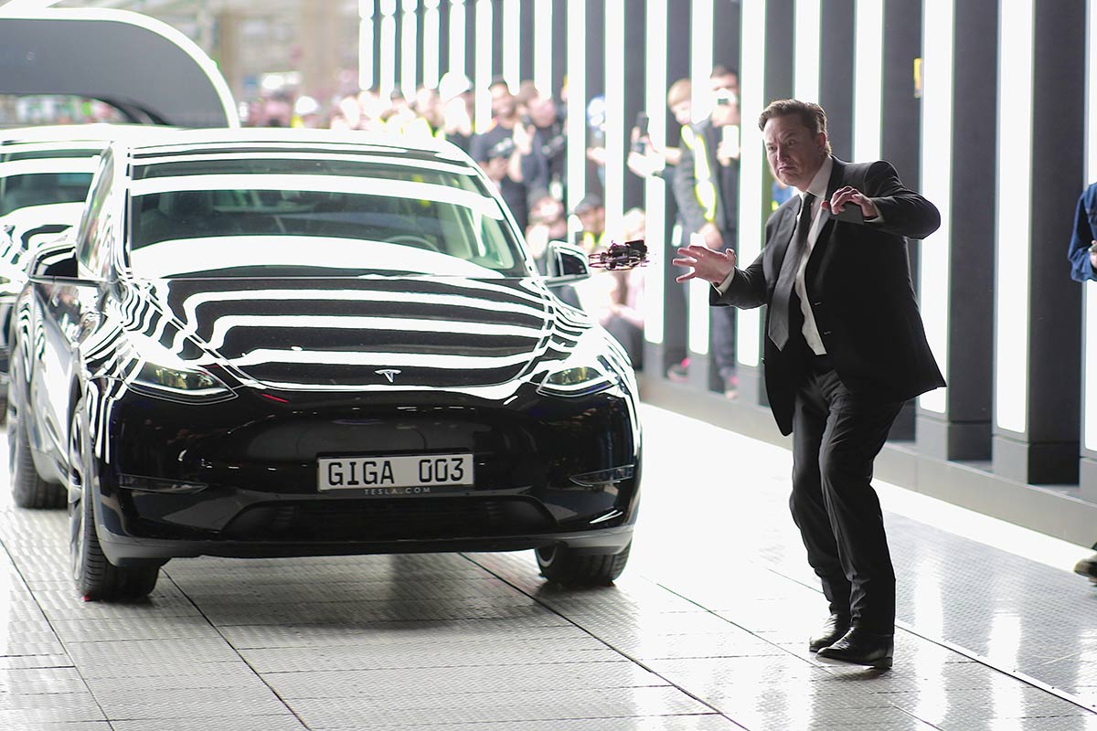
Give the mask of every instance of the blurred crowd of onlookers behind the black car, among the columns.
MULTIPOLYGON (((338 99, 325 110, 307 96, 291 100, 274 95, 252 104, 245 116, 246 124, 256 126, 362 129, 453 142, 480 165, 498 189, 524 231, 542 273, 547 273, 546 252, 552 241, 580 245, 587 253, 610 245, 606 208, 598 192, 586 195, 570 212, 565 207, 566 82, 553 94, 538 89, 532 81, 522 81, 512 89, 496 78, 488 92, 491 119, 483 129, 474 124, 475 89, 459 73, 446 73, 437 88, 420 87, 410 99, 399 91, 384 96, 375 90, 363 90, 338 99)), ((700 96, 708 100, 706 113, 695 121, 699 95, 690 81, 680 79, 670 84, 667 105, 677 125, 667 135, 666 147, 653 142, 640 119, 631 130, 627 168, 642 178, 663 178, 674 192, 677 219, 669 251, 690 240, 714 249, 735 248, 737 243, 738 73, 715 66, 709 89, 700 96)), ((585 112, 591 132, 584 140, 586 158, 598 178, 604 180, 604 102, 596 98, 585 112)), ((625 212, 622 224, 621 242, 647 238, 642 209, 625 212)), ((638 368, 643 363, 643 269, 634 269, 595 270, 590 281, 562 288, 558 294, 596 317, 621 341, 638 368)), ((734 397, 735 319, 730 309, 724 309, 713 311, 712 353, 719 370, 717 390, 734 397)), ((669 375, 686 378, 688 367, 683 350, 675 357, 669 375)))

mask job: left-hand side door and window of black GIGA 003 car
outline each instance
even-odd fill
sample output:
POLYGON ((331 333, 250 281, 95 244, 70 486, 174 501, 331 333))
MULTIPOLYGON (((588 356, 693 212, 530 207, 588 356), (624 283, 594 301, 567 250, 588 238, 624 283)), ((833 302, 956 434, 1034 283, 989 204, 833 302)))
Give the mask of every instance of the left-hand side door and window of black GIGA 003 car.
POLYGON ((69 395, 79 366, 78 346, 99 323, 104 252, 122 229, 123 212, 116 205, 120 187, 113 156, 104 155, 76 233, 77 276, 57 277, 36 287, 41 317, 35 322, 37 363, 31 399, 39 445, 59 462, 67 459, 69 395))

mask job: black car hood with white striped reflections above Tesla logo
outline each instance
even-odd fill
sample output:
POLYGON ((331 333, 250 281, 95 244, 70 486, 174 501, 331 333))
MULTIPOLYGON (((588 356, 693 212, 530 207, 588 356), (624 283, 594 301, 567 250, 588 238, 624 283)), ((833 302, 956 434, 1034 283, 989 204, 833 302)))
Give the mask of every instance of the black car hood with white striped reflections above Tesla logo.
POLYGON ((563 355, 553 343, 562 306, 536 279, 180 278, 136 286, 170 316, 166 330, 174 338, 161 330, 161 343, 176 340, 172 350, 182 352, 183 341, 195 341, 230 373, 271 388, 490 386, 522 376, 546 353, 563 355))

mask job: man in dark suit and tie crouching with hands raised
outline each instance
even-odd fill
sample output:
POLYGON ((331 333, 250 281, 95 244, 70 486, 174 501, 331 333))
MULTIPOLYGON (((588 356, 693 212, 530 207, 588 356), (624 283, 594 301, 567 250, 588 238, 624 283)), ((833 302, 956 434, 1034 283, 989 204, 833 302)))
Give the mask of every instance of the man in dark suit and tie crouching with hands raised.
POLYGON ((872 464, 903 402, 945 386, 911 284, 906 238, 940 226, 937 208, 884 161, 830 155, 817 104, 771 103, 758 121, 773 176, 794 195, 766 224, 748 267, 735 252, 678 250, 681 279, 713 285, 712 305, 767 305, 766 390, 793 434, 792 516, 830 617, 821 660, 890 667, 895 573, 872 464))

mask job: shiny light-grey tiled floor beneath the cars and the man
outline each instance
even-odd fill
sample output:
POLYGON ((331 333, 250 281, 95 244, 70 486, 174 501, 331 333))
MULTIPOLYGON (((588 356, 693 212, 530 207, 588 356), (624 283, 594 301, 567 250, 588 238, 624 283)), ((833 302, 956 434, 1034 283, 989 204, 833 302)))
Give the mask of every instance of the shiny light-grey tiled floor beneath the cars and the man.
POLYGON ((1097 730, 1087 549, 881 486, 895 667, 819 665, 788 453, 643 418, 631 564, 589 591, 528 552, 188 559, 84 603, 64 513, 0 486, 0 730, 1097 730))

